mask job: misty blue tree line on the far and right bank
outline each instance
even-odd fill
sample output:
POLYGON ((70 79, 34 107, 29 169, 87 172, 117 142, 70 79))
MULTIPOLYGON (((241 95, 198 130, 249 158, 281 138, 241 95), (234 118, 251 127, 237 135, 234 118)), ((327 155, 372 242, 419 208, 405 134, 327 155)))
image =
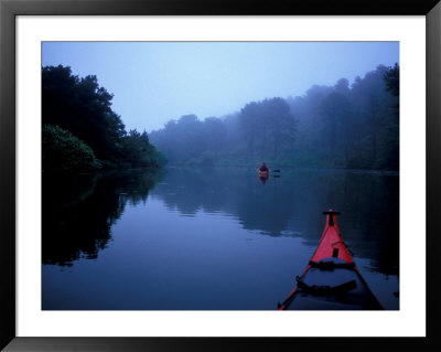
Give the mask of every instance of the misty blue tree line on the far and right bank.
POLYGON ((174 164, 398 170, 398 102, 399 66, 380 65, 352 85, 342 78, 219 118, 186 115, 150 138, 174 164))

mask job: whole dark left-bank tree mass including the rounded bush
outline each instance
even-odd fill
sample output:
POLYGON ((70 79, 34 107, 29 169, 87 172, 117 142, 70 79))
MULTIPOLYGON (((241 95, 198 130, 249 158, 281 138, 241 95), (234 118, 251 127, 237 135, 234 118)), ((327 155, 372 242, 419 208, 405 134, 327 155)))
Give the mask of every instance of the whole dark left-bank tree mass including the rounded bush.
POLYGON ((43 67, 43 170, 90 171, 165 163, 146 131, 126 131, 120 116, 111 109, 112 97, 94 75, 79 78, 71 67, 43 67))

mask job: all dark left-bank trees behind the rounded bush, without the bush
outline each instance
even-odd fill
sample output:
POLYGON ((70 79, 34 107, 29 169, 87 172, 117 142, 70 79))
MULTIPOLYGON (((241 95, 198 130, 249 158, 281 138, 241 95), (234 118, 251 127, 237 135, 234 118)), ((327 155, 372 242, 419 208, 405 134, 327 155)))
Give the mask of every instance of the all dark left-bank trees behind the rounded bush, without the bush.
POLYGON ((149 143, 146 132, 127 134, 120 116, 111 109, 112 97, 98 85, 96 76, 79 78, 72 74, 71 67, 61 65, 42 70, 44 125, 56 125, 72 132, 93 150, 104 168, 163 166, 166 159, 149 143))

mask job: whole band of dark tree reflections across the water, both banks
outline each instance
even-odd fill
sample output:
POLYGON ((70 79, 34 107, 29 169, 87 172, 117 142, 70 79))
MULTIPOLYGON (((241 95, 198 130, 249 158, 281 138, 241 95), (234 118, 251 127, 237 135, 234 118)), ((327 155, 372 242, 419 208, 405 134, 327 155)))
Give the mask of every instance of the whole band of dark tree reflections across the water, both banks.
POLYGON ((170 168, 75 178, 43 177, 43 264, 96 258, 128 204, 160 199, 169 212, 223 213, 272 237, 302 237, 315 246, 321 212, 342 212, 344 239, 379 273, 398 275, 399 178, 380 172, 284 170, 265 186, 246 169, 170 168), (155 186, 158 182, 165 183, 155 186), (154 188, 154 189, 153 189, 154 188))

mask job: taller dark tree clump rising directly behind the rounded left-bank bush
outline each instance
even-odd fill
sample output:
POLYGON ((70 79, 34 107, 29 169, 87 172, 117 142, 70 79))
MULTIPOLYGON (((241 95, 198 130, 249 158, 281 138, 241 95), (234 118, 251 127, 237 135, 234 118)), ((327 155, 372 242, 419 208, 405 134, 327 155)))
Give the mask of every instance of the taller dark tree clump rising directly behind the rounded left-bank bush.
POLYGON ((43 124, 72 131, 106 160, 121 153, 118 140, 126 134, 110 106, 112 95, 99 87, 96 76, 78 78, 71 67, 46 66, 42 73, 43 124))

